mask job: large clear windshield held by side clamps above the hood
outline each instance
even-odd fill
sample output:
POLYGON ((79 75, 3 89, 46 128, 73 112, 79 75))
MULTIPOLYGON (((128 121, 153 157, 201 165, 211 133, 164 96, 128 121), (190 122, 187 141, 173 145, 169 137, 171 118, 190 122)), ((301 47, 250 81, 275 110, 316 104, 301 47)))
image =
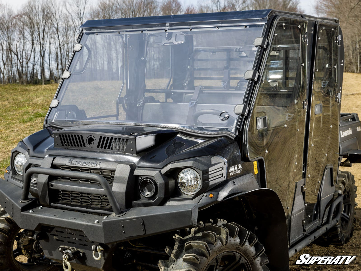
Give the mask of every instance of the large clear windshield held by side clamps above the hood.
POLYGON ((47 124, 232 132, 263 27, 84 33, 47 124))

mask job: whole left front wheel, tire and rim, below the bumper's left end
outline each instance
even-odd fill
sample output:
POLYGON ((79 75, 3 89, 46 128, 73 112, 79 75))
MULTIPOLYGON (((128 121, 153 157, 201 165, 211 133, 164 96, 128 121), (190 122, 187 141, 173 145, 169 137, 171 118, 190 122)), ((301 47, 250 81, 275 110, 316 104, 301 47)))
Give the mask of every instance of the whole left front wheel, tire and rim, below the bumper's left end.
MULTIPOLYGON (((29 233, 20 229, 10 217, 0 218, 0 270, 5 271, 58 271, 58 266, 36 264, 43 256, 36 251, 29 233), (37 257, 34 258, 34 255, 37 257)), ((39 261, 40 260, 40 261, 39 261)))

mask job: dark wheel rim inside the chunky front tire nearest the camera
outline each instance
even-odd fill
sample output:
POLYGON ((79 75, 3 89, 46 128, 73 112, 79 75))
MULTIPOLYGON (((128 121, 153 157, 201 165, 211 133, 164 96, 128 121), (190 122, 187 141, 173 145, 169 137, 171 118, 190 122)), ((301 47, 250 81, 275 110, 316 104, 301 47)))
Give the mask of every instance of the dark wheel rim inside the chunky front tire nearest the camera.
POLYGON ((206 271, 251 271, 251 266, 247 259, 236 251, 226 251, 210 262, 206 271))

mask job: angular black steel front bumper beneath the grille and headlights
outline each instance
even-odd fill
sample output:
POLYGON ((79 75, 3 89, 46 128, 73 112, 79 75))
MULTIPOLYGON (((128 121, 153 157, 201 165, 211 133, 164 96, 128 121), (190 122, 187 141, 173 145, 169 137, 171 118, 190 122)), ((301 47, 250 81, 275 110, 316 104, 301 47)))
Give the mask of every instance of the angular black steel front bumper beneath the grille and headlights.
POLYGON ((113 214, 103 217, 49 207, 39 208, 38 199, 29 197, 27 187, 27 182, 22 189, 0 179, 0 205, 23 229, 39 231, 42 226, 74 229, 84 232, 93 242, 112 244, 197 224, 197 204, 137 207, 122 212, 121 216, 113 214), (26 193, 23 194, 23 191, 26 193))

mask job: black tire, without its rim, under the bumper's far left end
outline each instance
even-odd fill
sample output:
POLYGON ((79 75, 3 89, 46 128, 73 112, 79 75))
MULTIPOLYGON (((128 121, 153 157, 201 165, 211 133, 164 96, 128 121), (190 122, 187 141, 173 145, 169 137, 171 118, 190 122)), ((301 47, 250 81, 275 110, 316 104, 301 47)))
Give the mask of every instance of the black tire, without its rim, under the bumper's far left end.
POLYGON ((4 271, 58 271, 58 266, 40 266, 37 264, 19 263, 13 254, 13 246, 19 226, 12 218, 0 218, 0 270, 4 271))

